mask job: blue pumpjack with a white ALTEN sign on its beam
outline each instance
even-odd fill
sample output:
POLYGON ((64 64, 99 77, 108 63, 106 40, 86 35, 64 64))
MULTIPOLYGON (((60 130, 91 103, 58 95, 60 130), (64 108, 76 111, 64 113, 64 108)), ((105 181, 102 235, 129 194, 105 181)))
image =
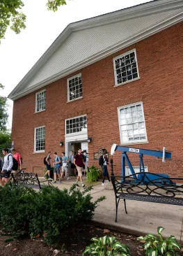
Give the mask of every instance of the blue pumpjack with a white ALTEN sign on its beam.
MULTIPOLYGON (((129 166, 129 169, 133 175, 133 178, 135 180, 135 182, 138 182, 138 180, 141 180, 143 173, 145 172, 145 167, 143 164, 143 155, 150 155, 152 157, 162 157, 162 162, 165 162, 166 159, 170 159, 171 158, 171 152, 167 152, 166 148, 164 148, 163 150, 147 150, 144 148, 129 148, 129 147, 124 147, 122 145, 116 145, 113 144, 111 147, 111 155, 113 155, 113 153, 115 151, 120 151, 122 152, 121 155, 121 176, 125 177, 125 164, 127 162, 127 165, 129 166), (140 172, 138 173, 138 175, 136 175, 134 168, 129 160, 129 157, 127 155, 127 152, 130 153, 135 153, 139 155, 139 169, 140 172)), ((164 178, 168 178, 169 176, 167 174, 162 174, 162 173, 156 173, 159 174, 161 176, 164 176, 164 178)), ((150 175, 150 180, 154 180, 156 176, 151 174, 150 175)), ((144 183, 146 182, 146 180, 144 179, 144 183)), ((164 180, 161 180, 162 183, 164 183, 164 180)))

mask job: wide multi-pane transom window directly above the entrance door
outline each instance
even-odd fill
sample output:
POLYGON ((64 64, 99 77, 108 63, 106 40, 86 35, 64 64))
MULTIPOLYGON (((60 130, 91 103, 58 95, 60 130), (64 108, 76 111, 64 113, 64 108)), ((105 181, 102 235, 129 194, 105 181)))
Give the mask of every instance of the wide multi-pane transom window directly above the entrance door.
POLYGON ((77 118, 67 119, 65 120, 65 125, 66 134, 74 134, 81 131, 87 132, 86 115, 77 118))

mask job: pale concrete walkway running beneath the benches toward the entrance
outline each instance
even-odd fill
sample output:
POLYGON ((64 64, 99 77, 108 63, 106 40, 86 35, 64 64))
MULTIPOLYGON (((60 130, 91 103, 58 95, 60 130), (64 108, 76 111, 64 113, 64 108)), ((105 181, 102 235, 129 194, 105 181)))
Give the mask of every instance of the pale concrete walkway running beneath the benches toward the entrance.
MULTIPOLYGON (((56 183, 54 185, 60 189, 63 189, 63 187, 69 189, 73 183, 74 180, 69 182, 65 180, 61 184, 56 183)), ((79 185, 81 186, 81 183, 79 185)), ((148 233, 157 234, 157 227, 161 226, 165 227, 163 231, 164 236, 174 235, 180 240, 183 221, 182 206, 127 200, 128 214, 126 214, 124 203, 121 200, 118 206, 118 222, 115 222, 116 206, 114 192, 105 188, 109 189, 109 185, 96 185, 90 192, 93 200, 106 196, 106 200, 100 202, 99 206, 95 209, 93 221, 97 225, 136 236, 148 233)), ((83 190, 82 188, 80 189, 83 190)))

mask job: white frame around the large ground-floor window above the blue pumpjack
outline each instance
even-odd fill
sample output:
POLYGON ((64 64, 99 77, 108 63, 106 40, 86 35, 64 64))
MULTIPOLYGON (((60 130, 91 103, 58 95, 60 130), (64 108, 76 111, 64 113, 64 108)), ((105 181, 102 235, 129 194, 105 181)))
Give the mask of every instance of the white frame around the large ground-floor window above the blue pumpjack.
POLYGON ((122 145, 128 145, 128 144, 143 144, 143 143, 147 143, 148 142, 148 136, 147 136, 147 130, 146 130, 146 126, 145 126, 145 116, 144 116, 144 111, 143 111, 143 102, 140 101, 140 102, 136 102, 136 103, 133 103, 133 104, 128 104, 128 105, 125 105, 125 106, 120 106, 118 107, 118 125, 119 125, 119 130, 120 130, 120 143, 122 145), (131 107, 131 106, 136 106, 136 105, 139 105, 141 104, 142 106, 142 112, 143 112, 143 122, 144 122, 144 129, 145 129, 145 139, 143 140, 138 140, 138 141, 127 141, 127 142, 122 142, 122 130, 120 129, 121 125, 120 125, 120 110, 122 108, 127 108, 127 107, 131 107))

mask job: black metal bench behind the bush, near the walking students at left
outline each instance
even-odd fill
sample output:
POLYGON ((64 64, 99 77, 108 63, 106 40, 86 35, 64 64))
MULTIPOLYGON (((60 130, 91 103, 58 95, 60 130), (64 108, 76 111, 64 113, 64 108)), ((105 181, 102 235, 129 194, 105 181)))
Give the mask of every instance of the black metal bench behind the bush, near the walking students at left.
POLYGON ((15 183, 15 185, 24 185, 39 190, 41 190, 42 185, 52 185, 51 180, 39 180, 37 173, 19 171, 16 175, 14 174, 15 173, 11 173, 11 176, 12 182, 15 183))

